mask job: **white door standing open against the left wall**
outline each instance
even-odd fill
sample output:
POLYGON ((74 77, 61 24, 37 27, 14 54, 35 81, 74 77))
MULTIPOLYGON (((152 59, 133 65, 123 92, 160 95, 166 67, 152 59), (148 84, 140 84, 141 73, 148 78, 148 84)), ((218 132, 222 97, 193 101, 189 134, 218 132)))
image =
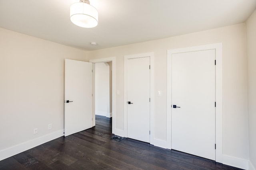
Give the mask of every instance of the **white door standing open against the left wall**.
POLYGON ((65 136, 92 127, 92 63, 65 59, 65 136))

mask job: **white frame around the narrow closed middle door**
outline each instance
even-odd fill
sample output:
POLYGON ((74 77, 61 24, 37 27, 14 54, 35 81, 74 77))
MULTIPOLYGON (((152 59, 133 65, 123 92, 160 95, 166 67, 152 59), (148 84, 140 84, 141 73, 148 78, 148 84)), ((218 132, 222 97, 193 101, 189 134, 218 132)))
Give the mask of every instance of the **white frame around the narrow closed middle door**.
MULTIPOLYGON (((154 141, 154 53, 142 53, 124 56, 124 137, 127 137, 127 61, 150 57, 150 144, 154 141)), ((153 144, 154 145, 154 144, 153 144)))

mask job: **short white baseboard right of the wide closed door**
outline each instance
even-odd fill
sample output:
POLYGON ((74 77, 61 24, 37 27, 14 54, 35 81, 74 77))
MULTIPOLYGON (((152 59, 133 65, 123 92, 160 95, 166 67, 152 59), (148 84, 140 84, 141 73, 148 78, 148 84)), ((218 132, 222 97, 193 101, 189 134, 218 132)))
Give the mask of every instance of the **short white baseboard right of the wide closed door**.
POLYGON ((249 161, 241 158, 235 158, 232 156, 223 155, 222 163, 225 165, 234 166, 236 168, 248 170, 249 161))

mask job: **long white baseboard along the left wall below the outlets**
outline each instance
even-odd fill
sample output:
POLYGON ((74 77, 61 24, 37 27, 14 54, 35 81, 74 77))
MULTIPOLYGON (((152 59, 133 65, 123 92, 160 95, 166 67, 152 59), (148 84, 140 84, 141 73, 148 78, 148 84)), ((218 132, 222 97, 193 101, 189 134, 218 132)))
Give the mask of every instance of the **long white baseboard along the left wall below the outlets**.
POLYGON ((21 143, 19 145, 16 145, 16 146, 4 149, 4 150, 0 150, 0 160, 4 160, 6 158, 9 158, 10 156, 14 156, 14 155, 24 152, 28 149, 34 148, 38 145, 42 145, 42 144, 52 141, 53 139, 56 139, 58 137, 62 137, 64 135, 63 133, 64 133, 64 129, 56 131, 54 133, 50 133, 50 134, 42 136, 42 137, 38 137, 31 141, 27 141, 27 142, 21 143))

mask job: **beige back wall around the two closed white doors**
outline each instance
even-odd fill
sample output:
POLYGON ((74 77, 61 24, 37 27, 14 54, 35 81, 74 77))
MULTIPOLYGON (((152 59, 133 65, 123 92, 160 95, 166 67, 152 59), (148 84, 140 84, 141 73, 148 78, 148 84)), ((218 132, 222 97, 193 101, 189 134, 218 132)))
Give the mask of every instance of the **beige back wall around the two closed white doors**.
MULTIPOLYGON (((124 129, 124 55, 154 52, 154 131, 166 141, 167 50, 223 43, 223 154, 248 160, 245 24, 120 47, 89 51, 90 59, 116 57, 116 128, 124 129), (157 91, 162 90, 162 96, 157 91)), ((217 61, 218 63, 218 61, 217 61)))

